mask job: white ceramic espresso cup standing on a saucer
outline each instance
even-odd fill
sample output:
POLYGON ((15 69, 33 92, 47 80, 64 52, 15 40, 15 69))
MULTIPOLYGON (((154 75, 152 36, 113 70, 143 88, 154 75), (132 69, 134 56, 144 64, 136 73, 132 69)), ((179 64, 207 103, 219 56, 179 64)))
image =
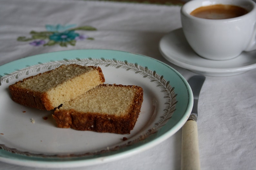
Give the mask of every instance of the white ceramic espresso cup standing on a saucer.
POLYGON ((256 3, 252 0, 192 0, 182 6, 181 22, 188 43, 203 58, 228 60, 243 51, 256 50, 256 3), (216 15, 221 19, 207 19, 191 14, 196 9, 211 8, 213 5, 238 7, 228 12, 232 14, 238 13, 241 8, 247 12, 232 18, 219 12, 216 15))

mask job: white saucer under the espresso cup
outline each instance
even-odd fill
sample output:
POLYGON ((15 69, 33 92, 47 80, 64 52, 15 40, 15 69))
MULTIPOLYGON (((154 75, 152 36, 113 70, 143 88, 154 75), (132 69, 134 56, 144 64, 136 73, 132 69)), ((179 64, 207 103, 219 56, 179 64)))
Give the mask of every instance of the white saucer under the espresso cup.
POLYGON ((224 61, 200 57, 188 44, 182 28, 165 35, 159 49, 163 57, 173 64, 207 76, 232 76, 256 68, 256 51, 242 52, 238 57, 224 61))

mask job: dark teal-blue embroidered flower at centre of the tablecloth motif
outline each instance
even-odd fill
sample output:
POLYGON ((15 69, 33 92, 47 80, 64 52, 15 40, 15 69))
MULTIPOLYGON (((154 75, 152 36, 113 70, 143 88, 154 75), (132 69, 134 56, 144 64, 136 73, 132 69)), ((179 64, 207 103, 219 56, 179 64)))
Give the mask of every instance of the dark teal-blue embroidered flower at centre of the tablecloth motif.
POLYGON ((75 33, 75 31, 64 31, 62 33, 53 33, 49 36, 50 40, 54 40, 55 42, 70 42, 79 36, 79 33, 75 33))

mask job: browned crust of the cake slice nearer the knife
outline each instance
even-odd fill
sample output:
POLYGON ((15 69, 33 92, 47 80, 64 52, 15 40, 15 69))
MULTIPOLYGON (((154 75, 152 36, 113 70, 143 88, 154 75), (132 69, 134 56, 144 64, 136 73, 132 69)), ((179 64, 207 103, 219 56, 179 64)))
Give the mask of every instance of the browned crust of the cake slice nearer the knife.
MULTIPOLYGON (((105 84, 101 86, 106 86, 105 84)), ((123 85, 115 85, 127 87, 123 85)), ((128 114, 124 116, 108 115, 101 113, 81 113, 75 109, 54 111, 53 118, 57 127, 73 128, 76 130, 89 130, 96 132, 108 132, 117 134, 129 134, 133 129, 140 113, 143 102, 143 89, 139 86, 128 86, 136 89, 133 102, 128 114)))

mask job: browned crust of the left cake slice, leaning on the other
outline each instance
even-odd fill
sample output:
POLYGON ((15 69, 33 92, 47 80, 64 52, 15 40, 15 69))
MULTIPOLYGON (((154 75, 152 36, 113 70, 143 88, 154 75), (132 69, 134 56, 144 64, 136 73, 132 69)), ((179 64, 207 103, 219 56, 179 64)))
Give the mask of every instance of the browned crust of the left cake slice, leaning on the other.
MULTIPOLYGON (((95 66, 82 66, 82 65, 77 65, 77 64, 70 64, 74 67, 92 67, 96 69, 99 72, 100 80, 101 82, 105 82, 105 78, 103 75, 103 72, 100 67, 95 67, 95 66)), ((56 69, 59 69, 61 67, 64 67, 65 65, 62 65, 56 69)), ((49 74, 54 70, 46 71, 44 73, 39 73, 35 76, 30 76, 27 77, 21 81, 17 81, 15 84, 12 84, 9 86, 9 91, 11 94, 11 98, 13 101, 31 107, 31 108, 36 108, 36 109, 41 109, 41 110, 52 110, 55 107, 52 105, 51 101, 48 99, 47 93, 46 92, 41 92, 41 91, 33 91, 30 89, 22 88, 19 87, 19 84, 22 83, 25 80, 28 79, 33 79, 36 76, 40 76, 41 74, 49 74)))

